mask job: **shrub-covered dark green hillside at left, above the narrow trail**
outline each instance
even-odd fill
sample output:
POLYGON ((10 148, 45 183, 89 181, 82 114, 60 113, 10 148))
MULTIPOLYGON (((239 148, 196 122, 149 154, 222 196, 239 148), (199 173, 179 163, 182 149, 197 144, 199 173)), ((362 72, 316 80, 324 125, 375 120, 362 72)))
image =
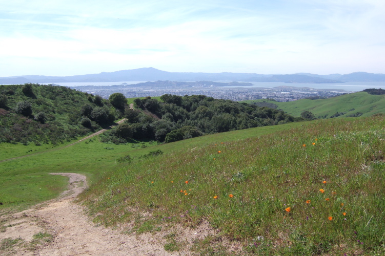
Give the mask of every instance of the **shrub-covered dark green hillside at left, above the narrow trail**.
POLYGON ((107 100, 67 87, 0 86, 0 143, 63 143, 99 130, 118 116, 107 100), (86 112, 91 119, 84 118, 86 112))

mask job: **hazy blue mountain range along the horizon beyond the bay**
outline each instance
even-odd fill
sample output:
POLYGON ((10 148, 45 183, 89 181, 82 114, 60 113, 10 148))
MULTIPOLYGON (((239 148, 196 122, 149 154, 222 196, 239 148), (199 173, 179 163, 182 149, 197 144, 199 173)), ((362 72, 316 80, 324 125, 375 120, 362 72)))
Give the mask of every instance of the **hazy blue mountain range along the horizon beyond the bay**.
POLYGON ((336 83, 360 81, 385 81, 385 74, 371 74, 355 72, 351 74, 316 75, 310 73, 297 73, 290 75, 256 73, 192 73, 192 72, 167 72, 154 68, 140 68, 120 70, 115 72, 102 72, 99 74, 76 76, 39 76, 24 75, 0 77, 0 84, 54 83, 54 82, 120 82, 120 81, 254 81, 254 82, 295 82, 295 83, 336 83))

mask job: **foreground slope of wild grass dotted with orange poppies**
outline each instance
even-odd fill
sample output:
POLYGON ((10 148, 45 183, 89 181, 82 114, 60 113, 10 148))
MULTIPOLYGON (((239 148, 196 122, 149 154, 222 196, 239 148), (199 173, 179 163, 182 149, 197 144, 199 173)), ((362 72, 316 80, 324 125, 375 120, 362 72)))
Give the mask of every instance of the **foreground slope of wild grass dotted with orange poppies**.
POLYGON ((383 254, 384 122, 319 120, 186 146, 123 163, 80 199, 107 226, 141 213, 153 226, 207 220, 251 254, 383 254))

